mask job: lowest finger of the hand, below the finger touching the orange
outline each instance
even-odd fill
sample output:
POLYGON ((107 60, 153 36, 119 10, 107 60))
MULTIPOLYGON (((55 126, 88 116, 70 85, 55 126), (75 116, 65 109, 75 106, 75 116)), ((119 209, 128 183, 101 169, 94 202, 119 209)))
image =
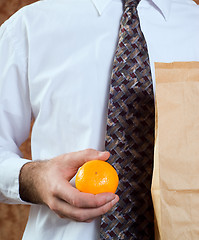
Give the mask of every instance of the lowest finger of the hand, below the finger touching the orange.
POLYGON ((98 208, 77 208, 64 201, 57 201, 56 209, 53 209, 59 216, 73 219, 79 222, 90 222, 105 213, 107 213, 119 200, 116 197, 106 203, 105 205, 98 208))

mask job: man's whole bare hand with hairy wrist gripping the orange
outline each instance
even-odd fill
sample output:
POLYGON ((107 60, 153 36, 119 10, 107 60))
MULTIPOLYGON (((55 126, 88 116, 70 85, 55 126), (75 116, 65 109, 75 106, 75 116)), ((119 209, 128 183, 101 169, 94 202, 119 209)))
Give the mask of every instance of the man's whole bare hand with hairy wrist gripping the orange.
POLYGON ((109 156, 108 152, 87 149, 27 163, 19 176, 20 197, 27 202, 45 204, 62 218, 90 222, 109 211, 119 197, 113 193, 82 193, 69 181, 85 162, 105 161, 109 156))

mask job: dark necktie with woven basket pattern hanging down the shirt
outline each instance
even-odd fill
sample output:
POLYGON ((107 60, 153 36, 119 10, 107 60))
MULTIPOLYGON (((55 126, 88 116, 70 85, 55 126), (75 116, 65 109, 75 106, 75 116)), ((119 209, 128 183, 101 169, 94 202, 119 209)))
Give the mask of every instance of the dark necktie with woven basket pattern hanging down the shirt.
POLYGON ((149 57, 137 5, 123 0, 113 62, 106 149, 119 174, 119 203, 101 221, 100 239, 154 239, 151 180, 154 97, 149 57))

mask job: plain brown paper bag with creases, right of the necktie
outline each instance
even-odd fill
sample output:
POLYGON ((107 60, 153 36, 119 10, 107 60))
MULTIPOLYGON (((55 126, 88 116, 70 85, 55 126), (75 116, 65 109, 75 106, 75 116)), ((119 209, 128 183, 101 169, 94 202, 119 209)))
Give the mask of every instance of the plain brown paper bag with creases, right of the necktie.
POLYGON ((156 63, 156 239, 199 239, 199 62, 156 63))

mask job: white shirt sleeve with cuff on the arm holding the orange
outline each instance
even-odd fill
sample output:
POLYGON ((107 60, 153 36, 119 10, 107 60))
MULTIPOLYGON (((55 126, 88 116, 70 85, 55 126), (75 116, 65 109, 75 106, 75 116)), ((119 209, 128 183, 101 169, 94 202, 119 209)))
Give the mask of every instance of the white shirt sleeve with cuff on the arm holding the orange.
POLYGON ((0 202, 9 204, 25 204, 18 178, 29 161, 19 150, 31 122, 27 44, 21 28, 14 17, 0 28, 0 202))

